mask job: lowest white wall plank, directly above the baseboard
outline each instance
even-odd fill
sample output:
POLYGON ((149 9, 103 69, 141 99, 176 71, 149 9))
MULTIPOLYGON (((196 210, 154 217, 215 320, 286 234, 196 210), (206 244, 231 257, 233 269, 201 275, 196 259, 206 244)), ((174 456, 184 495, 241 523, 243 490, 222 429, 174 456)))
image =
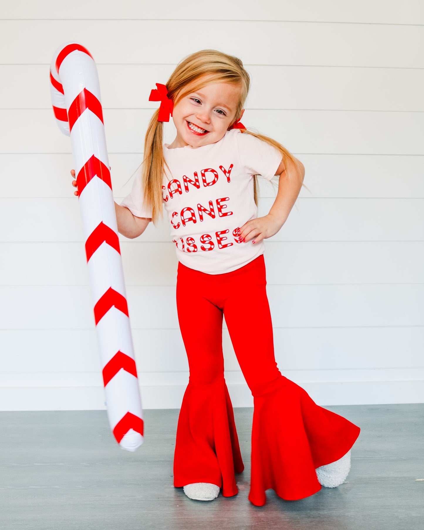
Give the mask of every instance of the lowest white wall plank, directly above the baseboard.
MULTIPOLYGON (((275 356, 282 371, 376 370, 422 367, 424 326, 366 328, 274 328, 275 356)), ((1 330, 8 355, 0 357, 0 372, 94 373, 101 372, 94 329, 1 330)), ((187 373, 187 355, 179 329, 136 329, 134 351, 138 373, 187 373)), ((228 330, 223 330, 225 370, 240 372, 228 330)), ((393 372, 394 370, 394 372, 393 372)), ((290 378, 289 375, 287 377, 290 378)), ((376 377, 376 376, 375 376, 376 377)), ((415 378, 415 377, 412 377, 415 378)), ((323 379, 322 379, 323 380, 323 379)))

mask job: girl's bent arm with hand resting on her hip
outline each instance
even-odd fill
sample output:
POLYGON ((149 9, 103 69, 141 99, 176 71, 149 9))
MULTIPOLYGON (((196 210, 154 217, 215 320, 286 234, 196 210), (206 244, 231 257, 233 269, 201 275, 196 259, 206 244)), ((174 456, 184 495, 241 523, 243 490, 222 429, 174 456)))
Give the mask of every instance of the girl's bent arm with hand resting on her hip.
MULTIPOLYGON (((296 158, 297 160, 297 158, 296 158)), ((297 161, 299 167, 297 168, 293 162, 287 161, 290 171, 290 179, 287 178, 287 172, 284 164, 281 161, 276 175, 280 175, 278 182, 277 197, 269 210, 269 214, 264 217, 251 219, 240 227, 244 242, 253 240, 252 243, 257 243, 262 239, 271 237, 276 234, 282 225, 287 220, 288 214, 293 208, 299 192, 302 188, 302 182, 305 176, 305 167, 302 162, 297 161)))

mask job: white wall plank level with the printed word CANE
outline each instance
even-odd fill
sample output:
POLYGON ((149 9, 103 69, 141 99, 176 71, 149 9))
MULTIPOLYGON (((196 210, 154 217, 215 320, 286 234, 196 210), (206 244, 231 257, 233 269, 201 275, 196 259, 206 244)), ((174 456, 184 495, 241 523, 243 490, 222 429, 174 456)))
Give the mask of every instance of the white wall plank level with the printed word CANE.
MULTIPOLYGON (((117 199, 119 204, 121 199, 117 199)), ((273 199, 259 201, 267 215, 273 199)), ((0 199, 3 242, 82 241, 78 200, 0 199)), ((423 199, 297 199, 286 223, 268 241, 422 241, 423 199), (395 215, 394 215, 395 213, 395 215)), ((232 227, 229 222, 228 227, 232 227)), ((235 228, 235 226, 233 227, 235 228)), ((172 241, 164 216, 131 241, 172 241)), ((121 241, 128 241, 120 235, 121 241)), ((247 242, 245 244, 251 244, 247 242)))

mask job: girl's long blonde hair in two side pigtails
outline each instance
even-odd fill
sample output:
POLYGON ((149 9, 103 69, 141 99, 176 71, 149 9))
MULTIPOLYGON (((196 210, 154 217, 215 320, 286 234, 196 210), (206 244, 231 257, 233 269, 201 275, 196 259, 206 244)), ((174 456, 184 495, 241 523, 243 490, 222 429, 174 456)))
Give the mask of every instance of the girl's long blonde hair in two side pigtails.
MULTIPOLYGON (((249 92, 250 76, 244 69, 240 59, 217 50, 200 50, 180 61, 166 82, 167 95, 175 106, 187 94, 196 92, 210 83, 230 83, 240 86, 240 98, 237 103, 234 121, 240 119, 249 92)), ((163 217, 162 182, 165 166, 170 171, 163 155, 163 122, 157 121, 158 114, 159 109, 154 112, 147 127, 144 141, 144 159, 142 162, 144 201, 145 204, 152 207, 152 221, 154 224, 156 224, 159 216, 163 217)), ((228 129, 231 127, 232 125, 228 129)), ((290 178, 287 160, 290 160, 296 167, 298 167, 298 161, 284 146, 268 136, 263 136, 251 130, 241 129, 241 132, 243 134, 251 134, 275 147, 281 153, 282 162, 286 167, 286 174, 290 178)), ((258 205, 257 175, 254 175, 253 190, 254 201, 258 205)))

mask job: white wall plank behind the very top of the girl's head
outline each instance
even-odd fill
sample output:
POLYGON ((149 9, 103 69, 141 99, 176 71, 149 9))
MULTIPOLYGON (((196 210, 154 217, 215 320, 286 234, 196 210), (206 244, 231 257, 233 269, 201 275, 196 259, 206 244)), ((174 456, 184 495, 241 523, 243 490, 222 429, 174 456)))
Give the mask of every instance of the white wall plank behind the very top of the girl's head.
POLYGON ((413 25, 257 20, 217 25, 205 20, 201 29, 201 45, 193 48, 187 24, 174 20, 79 20, 77 24, 72 20, 2 20, 0 63, 50 64, 60 43, 75 40, 98 63, 177 63, 201 47, 225 50, 246 64, 410 68, 424 64, 424 35, 413 25), (159 34, 163 38, 158 39, 159 34), (255 38, 240 39, 240 35, 255 38))

